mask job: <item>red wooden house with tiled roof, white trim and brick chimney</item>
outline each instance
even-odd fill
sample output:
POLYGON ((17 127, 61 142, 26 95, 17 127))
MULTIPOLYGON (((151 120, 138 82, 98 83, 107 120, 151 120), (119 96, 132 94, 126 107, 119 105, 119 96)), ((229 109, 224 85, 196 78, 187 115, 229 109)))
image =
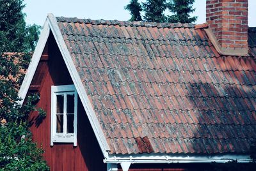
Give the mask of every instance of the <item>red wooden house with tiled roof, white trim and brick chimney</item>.
POLYGON ((47 117, 31 113, 31 131, 51 170, 252 161, 256 29, 247 15, 246 0, 208 0, 200 25, 49 14, 19 96, 40 94, 47 117))

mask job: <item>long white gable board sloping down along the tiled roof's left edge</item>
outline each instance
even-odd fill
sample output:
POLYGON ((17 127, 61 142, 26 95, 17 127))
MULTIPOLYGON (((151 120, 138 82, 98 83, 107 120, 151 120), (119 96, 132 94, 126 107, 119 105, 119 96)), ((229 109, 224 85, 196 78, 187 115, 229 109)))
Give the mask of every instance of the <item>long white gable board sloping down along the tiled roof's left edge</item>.
POLYGON ((102 150, 104 158, 108 158, 108 151, 110 151, 108 142, 104 136, 102 129, 100 128, 100 124, 96 117, 95 111, 93 110, 92 104, 90 103, 88 95, 84 89, 81 78, 79 77, 79 75, 77 73, 76 66, 74 65, 74 63, 72 61, 72 57, 70 56, 67 45, 65 44, 65 41, 63 40, 63 36, 61 34, 60 28, 58 27, 56 17, 54 17, 54 15, 52 15, 50 13, 50 14, 48 14, 47 19, 49 20, 49 27, 51 28, 52 34, 54 35, 56 43, 60 49, 61 55, 65 61, 67 68, 68 68, 68 71, 70 73, 72 81, 74 82, 77 93, 79 94, 79 97, 81 98, 84 110, 85 110, 85 112, 88 116, 88 119, 92 125, 93 131, 95 133, 95 137, 97 138, 97 140, 99 142, 100 149, 102 150))

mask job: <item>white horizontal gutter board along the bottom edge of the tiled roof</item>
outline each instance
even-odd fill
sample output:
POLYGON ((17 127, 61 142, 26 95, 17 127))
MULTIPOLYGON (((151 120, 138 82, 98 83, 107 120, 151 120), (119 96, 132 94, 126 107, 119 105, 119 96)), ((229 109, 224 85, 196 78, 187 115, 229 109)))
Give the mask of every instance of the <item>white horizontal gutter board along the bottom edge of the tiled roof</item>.
POLYGON ((245 154, 134 154, 109 156, 104 163, 227 163, 234 160, 238 163, 252 162, 250 155, 245 154))

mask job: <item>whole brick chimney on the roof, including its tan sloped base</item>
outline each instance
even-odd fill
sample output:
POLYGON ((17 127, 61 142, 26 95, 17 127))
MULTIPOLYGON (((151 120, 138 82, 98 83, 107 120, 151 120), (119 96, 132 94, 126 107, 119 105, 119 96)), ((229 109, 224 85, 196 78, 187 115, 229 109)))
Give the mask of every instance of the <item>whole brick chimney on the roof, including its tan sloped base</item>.
POLYGON ((248 0, 207 0, 206 22, 221 54, 248 56, 248 0))

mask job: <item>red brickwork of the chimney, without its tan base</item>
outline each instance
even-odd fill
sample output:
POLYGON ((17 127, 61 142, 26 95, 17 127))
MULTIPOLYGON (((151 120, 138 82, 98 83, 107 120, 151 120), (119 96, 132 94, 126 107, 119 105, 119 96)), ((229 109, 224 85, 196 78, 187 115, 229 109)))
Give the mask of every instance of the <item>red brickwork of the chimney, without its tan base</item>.
MULTIPOLYGON (((228 40, 241 40, 241 39, 247 40, 244 37, 243 38, 237 37, 237 36, 247 36, 247 24, 248 24, 247 5, 248 5, 248 1, 246 0, 244 1, 220 0, 218 1, 218 3, 216 3, 216 1, 207 1, 207 7, 211 7, 211 8, 207 8, 207 14, 206 14, 207 22, 209 22, 209 27, 212 29, 212 31, 216 35, 216 38, 218 39, 218 41, 221 42, 221 46, 241 48, 241 45, 234 45, 236 41, 228 41, 228 40), (214 7, 218 7, 218 10, 212 8, 212 5, 214 7), (214 12, 214 15, 212 15, 212 12, 214 12), (221 40, 221 39, 228 39, 228 40, 221 40)), ((237 41, 237 43, 240 44, 241 42, 237 41)))

